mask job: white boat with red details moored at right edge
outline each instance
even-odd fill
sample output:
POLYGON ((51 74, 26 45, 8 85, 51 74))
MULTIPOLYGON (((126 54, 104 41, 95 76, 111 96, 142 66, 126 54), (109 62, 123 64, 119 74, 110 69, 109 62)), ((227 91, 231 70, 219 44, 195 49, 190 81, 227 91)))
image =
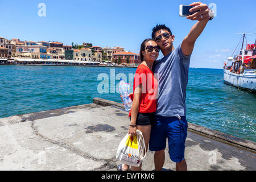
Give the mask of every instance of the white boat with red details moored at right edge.
MULTIPOLYGON (((243 42, 245 34, 243 33, 242 36, 243 42)), ((224 82, 238 89, 256 92, 256 40, 254 44, 246 43, 245 49, 243 49, 243 42, 238 55, 224 60, 224 82)))

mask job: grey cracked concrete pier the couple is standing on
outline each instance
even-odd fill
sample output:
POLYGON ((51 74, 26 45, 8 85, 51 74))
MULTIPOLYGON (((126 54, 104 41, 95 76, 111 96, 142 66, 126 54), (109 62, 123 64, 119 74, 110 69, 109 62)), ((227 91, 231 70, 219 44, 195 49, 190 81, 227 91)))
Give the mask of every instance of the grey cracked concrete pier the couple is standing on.
MULTIPOLYGON (((128 131, 121 104, 93 104, 0 118, 0 170, 116 170, 117 147, 128 131)), ((255 170, 256 144, 188 124, 188 170, 255 170)), ((148 151, 142 169, 154 167, 148 151)), ((164 169, 175 170, 166 148, 164 169)))

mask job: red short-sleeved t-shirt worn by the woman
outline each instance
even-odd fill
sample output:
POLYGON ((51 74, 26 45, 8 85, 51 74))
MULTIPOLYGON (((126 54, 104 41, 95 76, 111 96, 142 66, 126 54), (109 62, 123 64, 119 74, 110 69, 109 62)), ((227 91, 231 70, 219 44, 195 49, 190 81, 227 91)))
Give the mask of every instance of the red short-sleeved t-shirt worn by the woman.
MULTIPOLYGON (((142 94, 139 99, 139 113, 153 113, 156 111, 156 98, 158 97, 158 81, 154 73, 143 64, 135 72, 133 93, 137 86, 142 85, 142 94)), ((131 110, 129 117, 131 116, 131 110)))

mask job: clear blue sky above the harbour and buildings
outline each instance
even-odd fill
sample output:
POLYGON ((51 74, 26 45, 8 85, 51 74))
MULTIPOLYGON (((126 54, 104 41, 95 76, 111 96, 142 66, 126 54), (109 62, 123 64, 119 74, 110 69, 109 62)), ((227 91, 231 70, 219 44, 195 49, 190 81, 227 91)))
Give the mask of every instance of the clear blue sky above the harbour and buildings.
MULTIPOLYGON (((179 5, 193 1, 60 1, 0 0, 3 38, 20 40, 54 40, 71 45, 72 42, 93 43, 93 46, 125 48, 139 52, 141 42, 150 38, 157 23, 166 24, 175 35, 177 47, 195 21, 179 16, 179 5), (46 16, 38 16, 39 3, 45 3, 46 16)), ((256 32, 256 1, 203 1, 215 3, 217 16, 207 24, 197 39, 191 56, 191 67, 222 68, 222 60, 232 55, 240 32, 256 32)), ((247 35, 254 43, 255 35, 247 35)), ((162 55, 160 55, 162 57, 162 55)))

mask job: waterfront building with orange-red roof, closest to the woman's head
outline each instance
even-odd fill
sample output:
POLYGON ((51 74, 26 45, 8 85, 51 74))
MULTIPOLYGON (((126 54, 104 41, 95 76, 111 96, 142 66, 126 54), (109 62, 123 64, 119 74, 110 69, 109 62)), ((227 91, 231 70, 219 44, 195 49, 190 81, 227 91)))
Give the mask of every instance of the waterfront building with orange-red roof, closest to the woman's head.
POLYGON ((113 54, 115 63, 121 64, 141 64, 141 58, 138 53, 133 52, 116 52, 113 54))

